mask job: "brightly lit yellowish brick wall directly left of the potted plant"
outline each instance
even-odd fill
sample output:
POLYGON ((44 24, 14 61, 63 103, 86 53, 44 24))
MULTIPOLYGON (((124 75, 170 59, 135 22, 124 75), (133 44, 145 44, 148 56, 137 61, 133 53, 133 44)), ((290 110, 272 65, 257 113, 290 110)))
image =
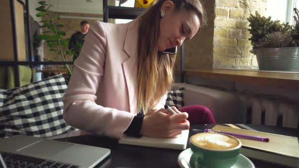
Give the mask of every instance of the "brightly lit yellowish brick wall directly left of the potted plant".
POLYGON ((250 53, 248 32, 250 13, 266 12, 267 0, 216 0, 213 35, 213 68, 256 69, 256 57, 250 53))

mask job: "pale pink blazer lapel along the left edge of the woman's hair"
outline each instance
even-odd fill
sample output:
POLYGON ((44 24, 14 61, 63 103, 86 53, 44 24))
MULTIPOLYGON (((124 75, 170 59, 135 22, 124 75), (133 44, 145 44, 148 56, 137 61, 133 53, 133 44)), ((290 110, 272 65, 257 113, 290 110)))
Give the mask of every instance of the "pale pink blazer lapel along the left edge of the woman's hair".
POLYGON ((122 63, 129 94, 130 112, 136 114, 137 108, 137 45, 138 45, 138 20, 129 23, 124 43, 124 51, 129 58, 122 63))

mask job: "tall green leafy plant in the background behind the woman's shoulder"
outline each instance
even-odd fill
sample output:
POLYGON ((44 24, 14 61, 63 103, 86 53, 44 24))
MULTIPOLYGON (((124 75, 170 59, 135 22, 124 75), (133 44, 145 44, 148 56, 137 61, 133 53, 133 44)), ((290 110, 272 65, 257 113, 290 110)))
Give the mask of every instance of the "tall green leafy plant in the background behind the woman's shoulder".
MULTIPOLYGON (((52 17, 49 9, 53 7, 52 5, 46 4, 45 1, 39 2, 40 7, 36 8, 36 11, 39 11, 36 14, 36 17, 44 17, 46 19, 40 21, 43 23, 41 27, 46 27, 47 31, 44 31, 42 34, 38 36, 41 40, 45 40, 50 51, 55 52, 58 56, 62 57, 63 61, 68 61, 72 57, 74 53, 76 53, 76 49, 69 50, 69 38, 65 38, 66 33, 61 30, 63 27, 62 24, 57 23, 59 17, 52 17)), ((71 70, 69 65, 65 65, 68 74, 71 75, 71 70)))

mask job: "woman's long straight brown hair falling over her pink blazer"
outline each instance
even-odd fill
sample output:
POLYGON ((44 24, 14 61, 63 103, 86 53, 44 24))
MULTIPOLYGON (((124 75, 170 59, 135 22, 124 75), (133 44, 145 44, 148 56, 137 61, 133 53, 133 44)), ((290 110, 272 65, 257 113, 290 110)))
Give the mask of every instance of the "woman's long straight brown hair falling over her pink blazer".
MULTIPOLYGON (((156 0, 139 16, 137 111, 146 114, 154 108, 171 88, 176 55, 158 52, 160 9, 167 0, 156 0)), ((171 0, 176 11, 192 10, 198 14, 200 25, 205 24, 205 14, 199 0, 171 0)))

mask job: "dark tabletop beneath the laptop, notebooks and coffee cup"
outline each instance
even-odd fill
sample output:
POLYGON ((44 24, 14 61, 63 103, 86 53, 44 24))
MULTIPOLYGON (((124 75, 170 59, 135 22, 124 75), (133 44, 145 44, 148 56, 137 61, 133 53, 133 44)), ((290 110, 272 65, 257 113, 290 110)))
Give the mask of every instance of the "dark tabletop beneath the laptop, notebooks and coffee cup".
MULTIPOLYGON (((286 136, 299 137, 298 131, 295 129, 280 128, 274 126, 265 125, 251 125, 251 124, 234 124, 237 127, 243 127, 243 129, 255 129, 257 131, 281 134, 286 136), (245 125, 245 126, 244 126, 245 125)), ((192 129, 211 129, 214 125, 192 125, 190 128, 189 136, 196 134, 192 129)), ((132 145, 118 144, 117 139, 111 139, 107 137, 99 137, 92 134, 87 134, 81 131, 71 132, 69 134, 52 137, 51 139, 58 141, 67 141, 72 143, 79 143, 84 145, 91 145, 97 147, 108 148, 111 150, 111 154, 105 160, 100 162, 95 167, 179 167, 177 159, 181 150, 174 149, 162 149, 151 148, 132 145)), ((189 142, 187 145, 189 148, 189 142)), ((273 164, 266 161, 259 161, 250 159, 256 167, 272 167, 282 168, 284 166, 273 164)))

